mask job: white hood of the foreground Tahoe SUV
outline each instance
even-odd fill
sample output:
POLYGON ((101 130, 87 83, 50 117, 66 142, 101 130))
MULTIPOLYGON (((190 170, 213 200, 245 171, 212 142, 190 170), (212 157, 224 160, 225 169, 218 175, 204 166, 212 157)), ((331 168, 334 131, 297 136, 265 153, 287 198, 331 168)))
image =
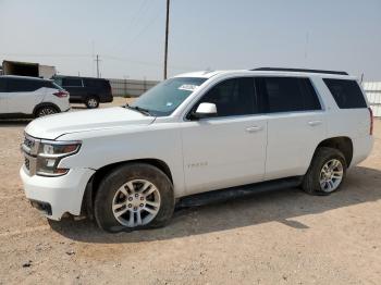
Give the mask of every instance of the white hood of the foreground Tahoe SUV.
POLYGON ((49 115, 32 121, 25 132, 37 138, 56 139, 62 135, 126 125, 149 125, 153 116, 122 107, 49 115))

